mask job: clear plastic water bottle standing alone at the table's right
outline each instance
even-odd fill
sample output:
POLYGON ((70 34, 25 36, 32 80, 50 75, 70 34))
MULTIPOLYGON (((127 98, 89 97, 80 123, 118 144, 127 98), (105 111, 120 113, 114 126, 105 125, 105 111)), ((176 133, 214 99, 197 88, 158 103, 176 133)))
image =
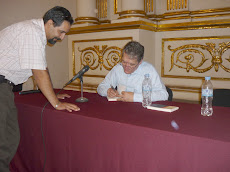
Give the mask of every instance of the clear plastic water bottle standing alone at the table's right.
POLYGON ((213 99, 213 86, 211 83, 211 77, 205 77, 205 81, 202 85, 202 106, 201 115, 212 116, 212 99, 213 99))

